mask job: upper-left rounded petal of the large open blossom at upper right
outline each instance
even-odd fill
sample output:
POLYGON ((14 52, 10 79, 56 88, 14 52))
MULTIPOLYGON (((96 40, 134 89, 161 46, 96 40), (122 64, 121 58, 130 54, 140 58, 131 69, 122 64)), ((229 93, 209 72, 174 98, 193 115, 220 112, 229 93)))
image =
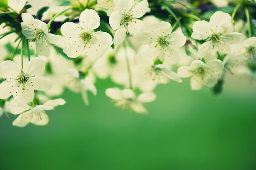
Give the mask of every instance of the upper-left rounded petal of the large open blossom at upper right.
POLYGON ((191 34, 191 38, 196 40, 205 40, 209 36, 211 36, 211 27, 209 22, 206 21, 196 21, 193 24, 193 33, 191 34))

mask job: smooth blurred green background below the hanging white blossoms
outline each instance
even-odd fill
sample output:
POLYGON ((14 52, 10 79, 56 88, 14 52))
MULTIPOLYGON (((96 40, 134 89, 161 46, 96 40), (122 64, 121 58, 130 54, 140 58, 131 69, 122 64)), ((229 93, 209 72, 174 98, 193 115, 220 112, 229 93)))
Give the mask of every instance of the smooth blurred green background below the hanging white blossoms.
POLYGON ((255 170, 256 85, 228 78, 224 92, 158 86, 148 115, 114 108, 109 80, 85 106, 66 90, 67 104, 48 112, 47 126, 12 126, 0 117, 0 170, 255 170))

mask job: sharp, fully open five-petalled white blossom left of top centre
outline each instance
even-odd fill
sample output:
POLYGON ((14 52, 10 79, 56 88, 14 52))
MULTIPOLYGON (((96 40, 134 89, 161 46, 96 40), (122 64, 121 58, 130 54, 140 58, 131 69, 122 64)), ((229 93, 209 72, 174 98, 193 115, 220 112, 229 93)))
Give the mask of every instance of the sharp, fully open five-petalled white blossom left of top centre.
POLYGON ((113 41, 109 33, 97 31, 100 18, 93 9, 81 12, 79 24, 66 22, 61 26, 61 33, 69 40, 63 47, 68 57, 75 58, 85 53, 92 59, 102 57, 103 48, 111 46, 113 41))

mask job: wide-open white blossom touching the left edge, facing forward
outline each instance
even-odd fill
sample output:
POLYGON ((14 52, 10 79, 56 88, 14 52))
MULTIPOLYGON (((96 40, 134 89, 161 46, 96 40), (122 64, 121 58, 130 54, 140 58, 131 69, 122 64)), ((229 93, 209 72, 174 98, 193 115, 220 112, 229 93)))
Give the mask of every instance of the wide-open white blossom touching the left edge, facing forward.
POLYGON ((0 99, 7 99, 13 95, 17 102, 31 102, 34 90, 47 91, 52 88, 52 80, 40 75, 44 70, 45 62, 38 57, 31 59, 22 70, 16 62, 2 62, 0 77, 6 80, 0 84, 0 99))

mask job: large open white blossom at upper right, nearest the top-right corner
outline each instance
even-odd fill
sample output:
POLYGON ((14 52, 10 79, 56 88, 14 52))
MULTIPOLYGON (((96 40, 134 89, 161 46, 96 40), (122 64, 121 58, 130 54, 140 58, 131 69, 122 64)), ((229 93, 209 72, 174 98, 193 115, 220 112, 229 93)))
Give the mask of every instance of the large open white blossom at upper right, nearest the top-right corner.
POLYGON ((243 34, 234 32, 231 16, 228 13, 217 11, 213 13, 210 21, 196 21, 193 24, 191 37, 196 40, 205 40, 198 53, 211 56, 215 53, 227 54, 230 52, 230 44, 243 41, 243 34))

